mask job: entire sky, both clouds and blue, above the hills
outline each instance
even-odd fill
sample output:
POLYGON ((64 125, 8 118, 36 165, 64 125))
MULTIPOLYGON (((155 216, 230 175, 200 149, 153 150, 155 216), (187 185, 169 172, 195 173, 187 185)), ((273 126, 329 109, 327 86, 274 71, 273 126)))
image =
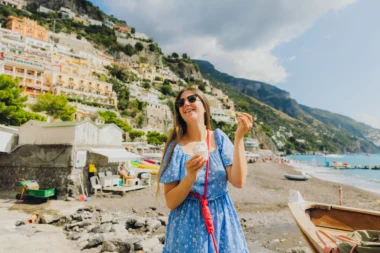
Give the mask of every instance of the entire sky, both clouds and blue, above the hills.
POLYGON ((380 1, 92 0, 217 70, 380 128, 380 1))

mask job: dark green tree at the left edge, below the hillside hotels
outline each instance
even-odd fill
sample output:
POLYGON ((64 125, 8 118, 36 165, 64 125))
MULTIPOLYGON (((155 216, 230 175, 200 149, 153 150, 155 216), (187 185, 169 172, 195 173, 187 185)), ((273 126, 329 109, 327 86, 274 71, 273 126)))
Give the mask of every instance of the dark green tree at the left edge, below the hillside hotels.
POLYGON ((21 96, 18 81, 0 75, 0 124, 19 126, 30 119, 45 121, 45 117, 24 110, 27 97, 21 96))

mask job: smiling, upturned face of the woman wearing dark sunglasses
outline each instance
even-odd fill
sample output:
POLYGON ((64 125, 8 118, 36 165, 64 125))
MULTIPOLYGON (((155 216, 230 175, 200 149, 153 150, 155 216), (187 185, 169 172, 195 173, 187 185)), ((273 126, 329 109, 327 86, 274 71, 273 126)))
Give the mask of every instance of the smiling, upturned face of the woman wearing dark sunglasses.
POLYGON ((204 122, 205 108, 201 101, 201 98, 196 96, 194 101, 194 96, 197 95, 193 91, 184 91, 179 100, 183 100, 183 106, 179 107, 179 113, 183 120, 188 124, 189 122, 202 121, 204 122), (190 101, 189 101, 190 100, 190 101), (193 103, 191 102, 193 101, 193 103))

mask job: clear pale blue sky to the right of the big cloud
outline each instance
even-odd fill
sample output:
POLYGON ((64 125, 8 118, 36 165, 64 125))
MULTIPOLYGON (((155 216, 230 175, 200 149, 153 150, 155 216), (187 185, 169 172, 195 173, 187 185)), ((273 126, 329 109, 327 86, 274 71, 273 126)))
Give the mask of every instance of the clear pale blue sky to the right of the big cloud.
POLYGON ((278 46, 289 73, 277 86, 299 103, 380 127, 380 1, 362 0, 321 17, 278 46), (295 57, 293 60, 287 60, 295 57))

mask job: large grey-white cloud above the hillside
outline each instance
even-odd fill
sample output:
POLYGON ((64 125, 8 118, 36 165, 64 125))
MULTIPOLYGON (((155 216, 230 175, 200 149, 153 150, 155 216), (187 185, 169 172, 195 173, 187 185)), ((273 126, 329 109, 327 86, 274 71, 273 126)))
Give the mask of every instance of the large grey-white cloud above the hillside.
POLYGON ((188 53, 223 72, 272 84, 286 70, 272 54, 319 17, 355 0, 104 0, 115 16, 154 38, 166 53, 188 53))

